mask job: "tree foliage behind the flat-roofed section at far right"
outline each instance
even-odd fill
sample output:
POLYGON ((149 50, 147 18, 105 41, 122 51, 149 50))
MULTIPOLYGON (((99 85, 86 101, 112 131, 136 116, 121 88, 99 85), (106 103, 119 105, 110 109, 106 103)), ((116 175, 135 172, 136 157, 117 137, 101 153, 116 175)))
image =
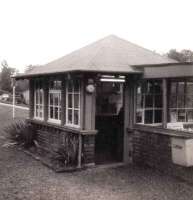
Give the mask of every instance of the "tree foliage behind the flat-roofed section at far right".
POLYGON ((193 51, 184 49, 182 51, 177 51, 176 49, 171 49, 167 56, 178 62, 193 62, 193 51))

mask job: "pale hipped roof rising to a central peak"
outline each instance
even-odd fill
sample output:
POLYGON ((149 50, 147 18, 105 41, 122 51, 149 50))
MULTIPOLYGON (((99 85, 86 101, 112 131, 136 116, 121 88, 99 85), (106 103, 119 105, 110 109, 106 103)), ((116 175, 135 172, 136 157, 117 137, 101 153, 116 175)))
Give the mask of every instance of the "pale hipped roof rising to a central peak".
POLYGON ((134 66, 167 63, 176 61, 111 35, 46 65, 34 67, 21 77, 71 71, 137 73, 139 70, 134 66))

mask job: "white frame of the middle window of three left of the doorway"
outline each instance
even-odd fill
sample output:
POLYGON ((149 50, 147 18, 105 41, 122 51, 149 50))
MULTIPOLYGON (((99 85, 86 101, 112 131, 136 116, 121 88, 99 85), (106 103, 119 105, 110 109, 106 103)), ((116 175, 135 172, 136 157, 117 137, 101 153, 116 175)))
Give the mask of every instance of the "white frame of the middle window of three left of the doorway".
POLYGON ((49 99, 48 100, 48 122, 60 124, 61 123, 61 90, 49 89, 48 99, 49 99), (53 98, 53 105, 50 105, 50 94, 58 94, 59 95, 59 104, 58 105, 55 105, 54 98, 53 98), (58 108, 58 119, 50 117, 50 107, 51 106, 53 107, 53 117, 55 117, 55 108, 56 107, 58 108))

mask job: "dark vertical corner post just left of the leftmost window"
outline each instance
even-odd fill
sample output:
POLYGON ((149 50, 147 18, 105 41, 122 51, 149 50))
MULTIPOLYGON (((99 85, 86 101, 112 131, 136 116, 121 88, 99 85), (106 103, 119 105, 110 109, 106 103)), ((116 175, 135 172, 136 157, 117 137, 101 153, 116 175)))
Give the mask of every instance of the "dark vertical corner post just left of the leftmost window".
POLYGON ((34 117, 34 81, 33 79, 29 80, 29 118, 33 119, 34 117))

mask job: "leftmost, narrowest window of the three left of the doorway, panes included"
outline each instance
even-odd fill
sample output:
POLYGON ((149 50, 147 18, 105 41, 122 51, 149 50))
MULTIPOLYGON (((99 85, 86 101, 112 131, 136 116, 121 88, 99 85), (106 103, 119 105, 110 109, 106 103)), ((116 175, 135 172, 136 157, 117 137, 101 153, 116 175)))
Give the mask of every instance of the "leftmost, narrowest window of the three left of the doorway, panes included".
POLYGON ((43 120, 43 83, 41 79, 35 80, 34 88, 34 118, 43 120))

